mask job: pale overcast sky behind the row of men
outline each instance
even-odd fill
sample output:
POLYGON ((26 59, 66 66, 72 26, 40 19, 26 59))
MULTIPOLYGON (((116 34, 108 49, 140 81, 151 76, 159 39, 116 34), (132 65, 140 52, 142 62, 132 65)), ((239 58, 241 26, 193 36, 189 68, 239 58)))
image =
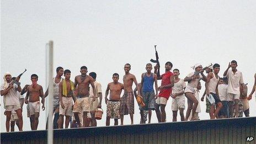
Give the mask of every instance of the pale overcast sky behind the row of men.
MULTIPOLYGON (((145 65, 154 58, 158 45, 161 73, 171 61, 180 77, 191 72, 194 63, 221 65, 237 60, 249 92, 254 83, 256 46, 256 1, 1 1, 1 77, 7 71, 20 82, 30 82, 38 74, 45 84, 45 44, 54 40, 54 67, 71 70, 71 78, 82 65, 98 74, 103 97, 114 72, 124 75, 124 64, 140 81, 145 65)), ((88 73, 89 73, 88 72, 88 73)), ((1 84, 3 79, 1 80, 1 84)), ((161 81, 158 81, 160 84, 161 81)), ((204 83, 202 83, 204 85, 204 83)), ((201 90, 201 95, 204 88, 201 90)), ((201 97, 200 95, 200 97, 201 97)), ((166 106, 167 121, 172 121, 171 100, 166 106)), ((1 97, 2 103, 2 97, 1 97)), ((24 105, 24 109, 25 109, 24 105)), ((255 97, 250 101, 250 116, 256 116, 255 97)), ((103 102, 105 125, 106 105, 103 102)), ((201 102, 200 119, 209 119, 201 102)), ((1 106, 1 132, 6 131, 1 106)), ((26 110, 24 130, 30 130, 26 110)), ((45 113, 40 114, 39 130, 45 129, 45 113)), ((178 120, 180 120, 178 116, 178 120)), ((111 125, 114 124, 111 120, 111 125)), ((125 116, 125 124, 130 124, 125 116)), ((140 121, 135 103, 135 124, 140 121)), ((153 111, 152 122, 156 122, 153 111)), ((119 121, 120 123, 120 121, 119 121)), ((17 127, 15 127, 17 130, 17 127)))

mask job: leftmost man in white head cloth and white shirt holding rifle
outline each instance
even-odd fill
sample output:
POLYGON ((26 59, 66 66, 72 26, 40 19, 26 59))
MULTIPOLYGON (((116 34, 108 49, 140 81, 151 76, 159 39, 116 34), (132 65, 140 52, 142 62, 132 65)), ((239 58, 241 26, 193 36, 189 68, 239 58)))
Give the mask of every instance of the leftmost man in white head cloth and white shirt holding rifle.
MULTIPOLYGON (((22 131, 23 128, 23 118, 22 118, 22 108, 20 108, 20 102, 18 97, 18 92, 22 90, 20 85, 12 84, 11 78, 12 75, 7 72, 4 74, 4 83, 1 86, 1 96, 4 96, 4 108, 6 109, 6 131, 10 130, 10 116, 14 110, 18 115, 18 127, 19 131, 22 131)), ((19 81, 19 78, 17 79, 19 81)))

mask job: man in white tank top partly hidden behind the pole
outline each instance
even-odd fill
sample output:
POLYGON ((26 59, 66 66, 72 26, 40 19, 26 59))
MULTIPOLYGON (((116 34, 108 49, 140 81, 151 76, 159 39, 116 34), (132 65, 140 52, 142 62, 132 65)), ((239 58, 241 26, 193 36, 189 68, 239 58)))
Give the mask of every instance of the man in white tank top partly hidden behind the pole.
MULTIPOLYGON (((58 117, 59 117, 59 110, 60 110, 60 98, 58 97, 59 95, 59 92, 58 92, 58 86, 60 84, 60 82, 63 80, 62 76, 63 76, 63 72, 64 72, 64 69, 62 67, 57 67, 56 68, 56 77, 54 77, 53 81, 54 81, 54 93, 52 95, 52 97, 54 97, 53 99, 53 102, 54 102, 54 129, 58 129, 58 124, 57 124, 57 121, 58 121, 58 117)), ((42 101, 45 102, 45 98, 48 96, 48 88, 45 92, 45 95, 44 97, 42 98, 42 101)), ((47 129, 47 123, 48 123, 48 119, 46 121, 46 129, 47 129)))

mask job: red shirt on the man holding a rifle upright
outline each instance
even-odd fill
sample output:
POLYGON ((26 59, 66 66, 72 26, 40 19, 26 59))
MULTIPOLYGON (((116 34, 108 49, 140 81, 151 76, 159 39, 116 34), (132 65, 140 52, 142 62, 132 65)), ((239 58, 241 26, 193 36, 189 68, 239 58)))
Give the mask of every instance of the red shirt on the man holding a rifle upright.
MULTIPOLYGON (((170 71, 164 73, 162 75, 161 86, 166 86, 166 85, 170 84, 170 77, 171 76, 173 76, 173 73, 170 72, 170 71)), ((160 92, 158 94, 158 97, 164 97, 164 98, 169 99, 170 93, 172 93, 172 88, 164 88, 164 89, 160 90, 160 92)))

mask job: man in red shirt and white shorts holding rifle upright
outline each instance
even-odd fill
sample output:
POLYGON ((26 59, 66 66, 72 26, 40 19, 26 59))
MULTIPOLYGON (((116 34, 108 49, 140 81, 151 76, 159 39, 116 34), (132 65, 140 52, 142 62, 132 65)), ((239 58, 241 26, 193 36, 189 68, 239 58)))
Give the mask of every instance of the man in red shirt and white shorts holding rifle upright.
MULTIPOLYGON (((172 87, 174 86, 174 76, 173 73, 170 72, 172 67, 172 62, 166 62, 166 72, 157 77, 157 79, 162 79, 161 86, 158 87, 158 91, 160 92, 156 99, 156 114, 158 122, 166 122, 166 104, 170 94, 172 93, 172 87), (161 111, 159 110, 159 107, 161 108, 161 111)), ((157 70, 159 71, 158 65, 154 67, 154 73, 157 73, 157 70)))

